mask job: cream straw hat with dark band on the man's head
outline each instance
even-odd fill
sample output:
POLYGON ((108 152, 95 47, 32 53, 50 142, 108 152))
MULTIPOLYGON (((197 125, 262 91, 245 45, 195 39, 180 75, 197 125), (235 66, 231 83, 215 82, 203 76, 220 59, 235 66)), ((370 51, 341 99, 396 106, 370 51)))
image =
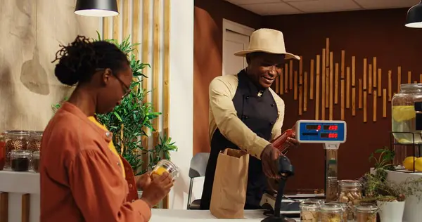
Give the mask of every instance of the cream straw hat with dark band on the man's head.
POLYGON ((271 29, 260 29, 250 35, 249 48, 234 53, 236 56, 246 56, 248 53, 264 52, 271 54, 284 54, 285 59, 294 58, 300 60, 298 55, 286 52, 283 32, 271 29))

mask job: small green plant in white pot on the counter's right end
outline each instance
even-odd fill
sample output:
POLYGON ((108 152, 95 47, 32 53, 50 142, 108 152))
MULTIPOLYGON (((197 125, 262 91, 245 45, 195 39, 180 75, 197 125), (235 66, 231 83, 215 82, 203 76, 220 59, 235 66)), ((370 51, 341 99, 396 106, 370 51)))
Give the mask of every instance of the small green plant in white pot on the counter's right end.
POLYGON ((386 147, 376 150, 369 157, 370 160, 375 160, 373 172, 366 173, 363 179, 365 196, 361 202, 377 204, 381 221, 385 222, 402 221, 407 197, 422 197, 422 179, 408 178, 402 183, 388 181, 387 171, 394 169, 391 164, 394 156, 395 152, 386 147), (379 154, 379 157, 374 154, 379 154))

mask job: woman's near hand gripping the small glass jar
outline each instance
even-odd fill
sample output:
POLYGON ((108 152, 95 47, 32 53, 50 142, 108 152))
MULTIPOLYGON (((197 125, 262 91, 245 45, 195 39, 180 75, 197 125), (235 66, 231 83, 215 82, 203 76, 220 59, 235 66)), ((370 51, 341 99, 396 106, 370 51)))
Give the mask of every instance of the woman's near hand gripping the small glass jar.
POLYGON ((160 203, 160 201, 170 192, 173 187, 173 179, 165 172, 161 176, 153 174, 151 184, 142 192, 141 200, 147 202, 150 207, 160 203))

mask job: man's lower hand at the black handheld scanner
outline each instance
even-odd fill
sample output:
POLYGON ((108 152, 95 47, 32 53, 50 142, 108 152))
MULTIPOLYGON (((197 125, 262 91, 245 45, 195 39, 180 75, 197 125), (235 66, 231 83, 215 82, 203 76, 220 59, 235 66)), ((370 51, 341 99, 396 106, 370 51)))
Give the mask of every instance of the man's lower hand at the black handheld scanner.
POLYGON ((267 145, 261 154, 262 171, 267 178, 280 178, 278 159, 283 154, 271 144, 267 145))

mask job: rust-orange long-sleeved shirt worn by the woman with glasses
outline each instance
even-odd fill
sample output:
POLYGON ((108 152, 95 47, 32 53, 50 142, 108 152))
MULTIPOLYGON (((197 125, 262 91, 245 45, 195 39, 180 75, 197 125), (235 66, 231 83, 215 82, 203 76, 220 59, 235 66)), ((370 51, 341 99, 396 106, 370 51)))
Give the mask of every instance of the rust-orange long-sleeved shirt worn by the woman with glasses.
POLYGON ((108 148, 111 138, 63 103, 41 141, 40 221, 149 221, 151 207, 137 200, 132 169, 108 148))

